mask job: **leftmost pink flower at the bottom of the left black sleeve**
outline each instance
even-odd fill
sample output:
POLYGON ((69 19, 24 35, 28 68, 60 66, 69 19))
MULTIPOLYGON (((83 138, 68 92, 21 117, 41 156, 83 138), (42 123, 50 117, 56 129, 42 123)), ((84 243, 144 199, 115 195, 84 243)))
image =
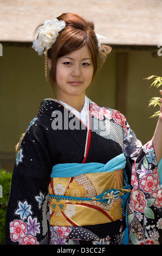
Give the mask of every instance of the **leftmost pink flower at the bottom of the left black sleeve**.
POLYGON ((22 221, 15 220, 10 223, 10 237, 12 241, 18 241, 22 239, 27 233, 27 225, 22 221))

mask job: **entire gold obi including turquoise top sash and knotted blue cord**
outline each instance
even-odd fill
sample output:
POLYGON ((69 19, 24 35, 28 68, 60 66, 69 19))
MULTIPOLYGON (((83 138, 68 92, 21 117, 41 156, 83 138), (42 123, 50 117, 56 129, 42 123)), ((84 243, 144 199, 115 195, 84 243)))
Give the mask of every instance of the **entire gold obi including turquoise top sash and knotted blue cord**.
POLYGON ((49 185, 50 225, 72 227, 120 220, 131 192, 125 164, 121 154, 106 164, 54 166, 49 185))

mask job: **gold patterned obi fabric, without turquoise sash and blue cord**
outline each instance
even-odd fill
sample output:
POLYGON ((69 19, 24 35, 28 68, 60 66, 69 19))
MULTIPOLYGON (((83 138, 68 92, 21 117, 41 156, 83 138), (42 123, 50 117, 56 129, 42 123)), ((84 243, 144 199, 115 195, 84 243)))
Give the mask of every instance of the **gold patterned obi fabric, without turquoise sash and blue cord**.
MULTIPOLYGON (((120 197, 104 205, 97 200, 67 200, 61 196, 93 198, 104 191, 123 188, 123 170, 113 172, 81 174, 71 178, 51 178, 49 194, 60 198, 49 198, 50 225, 83 226, 109 223, 122 218, 120 197)), ((112 192, 113 198, 113 192, 112 192)))

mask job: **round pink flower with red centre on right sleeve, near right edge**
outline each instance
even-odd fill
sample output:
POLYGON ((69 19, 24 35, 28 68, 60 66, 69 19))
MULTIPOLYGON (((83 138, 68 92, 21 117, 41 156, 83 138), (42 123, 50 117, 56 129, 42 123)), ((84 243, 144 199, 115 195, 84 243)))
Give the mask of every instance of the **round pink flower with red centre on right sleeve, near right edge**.
POLYGON ((140 184, 144 187, 144 191, 152 192, 157 188, 158 180, 152 175, 147 175, 145 179, 141 179, 140 184))

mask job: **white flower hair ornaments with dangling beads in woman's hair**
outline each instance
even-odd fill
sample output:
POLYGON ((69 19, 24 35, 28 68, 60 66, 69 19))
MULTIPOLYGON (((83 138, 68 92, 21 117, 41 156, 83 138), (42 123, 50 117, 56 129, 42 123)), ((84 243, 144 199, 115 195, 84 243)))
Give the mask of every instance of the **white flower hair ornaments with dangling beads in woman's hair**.
MULTIPOLYGON (((54 42, 56 41, 59 32, 66 27, 66 23, 64 21, 59 21, 57 19, 46 20, 44 25, 38 28, 39 35, 38 38, 33 42, 33 48, 38 53, 38 55, 42 55, 44 53, 44 69, 45 69, 45 77, 47 81, 47 51, 52 47, 54 42)), ((96 34, 98 38, 98 47, 99 50, 101 48, 100 40, 104 38, 99 34, 96 34)))

